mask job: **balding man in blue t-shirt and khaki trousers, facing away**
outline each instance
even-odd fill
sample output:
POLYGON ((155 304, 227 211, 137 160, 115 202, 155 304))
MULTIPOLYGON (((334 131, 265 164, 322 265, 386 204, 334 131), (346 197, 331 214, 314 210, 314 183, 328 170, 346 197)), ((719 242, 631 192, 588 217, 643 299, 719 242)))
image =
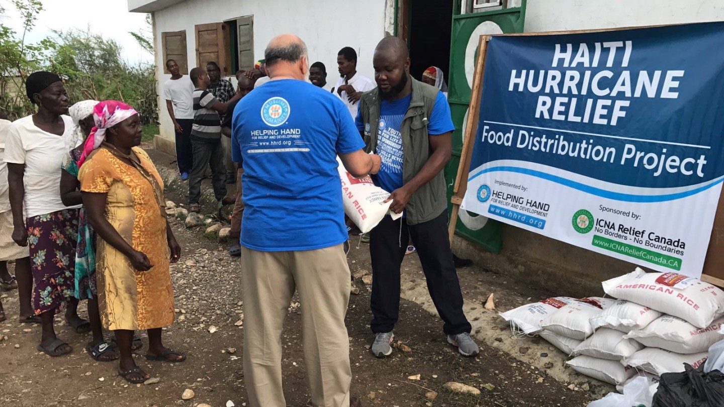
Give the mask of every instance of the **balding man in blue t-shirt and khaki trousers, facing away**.
POLYGON ((337 155, 350 174, 379 171, 345 104, 304 80, 306 45, 291 34, 266 47, 269 80, 232 118, 232 155, 243 161, 244 377, 251 406, 286 406, 279 337, 295 289, 302 303, 311 403, 360 406, 350 396, 345 313, 350 270, 337 155))

